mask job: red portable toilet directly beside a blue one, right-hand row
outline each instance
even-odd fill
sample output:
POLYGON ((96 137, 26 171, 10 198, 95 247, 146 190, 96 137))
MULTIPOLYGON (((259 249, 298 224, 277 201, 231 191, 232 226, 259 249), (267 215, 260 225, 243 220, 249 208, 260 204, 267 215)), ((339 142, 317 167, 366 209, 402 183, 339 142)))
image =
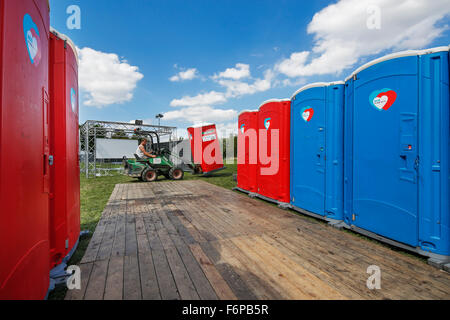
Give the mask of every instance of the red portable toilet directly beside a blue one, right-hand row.
POLYGON ((289 99, 269 100, 260 106, 257 195, 285 207, 290 200, 290 128, 289 99))

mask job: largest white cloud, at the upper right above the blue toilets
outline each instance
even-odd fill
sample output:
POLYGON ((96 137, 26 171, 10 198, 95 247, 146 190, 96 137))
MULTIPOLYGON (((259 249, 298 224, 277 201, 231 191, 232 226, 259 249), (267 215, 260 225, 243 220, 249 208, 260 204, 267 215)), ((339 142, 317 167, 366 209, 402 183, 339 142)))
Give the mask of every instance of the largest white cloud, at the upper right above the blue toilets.
POLYGON ((385 50, 420 49, 448 29, 438 22, 450 13, 448 0, 340 0, 316 13, 308 25, 311 51, 293 53, 275 66, 288 77, 340 74, 362 57, 385 50), (381 28, 370 29, 367 9, 380 8, 381 28))

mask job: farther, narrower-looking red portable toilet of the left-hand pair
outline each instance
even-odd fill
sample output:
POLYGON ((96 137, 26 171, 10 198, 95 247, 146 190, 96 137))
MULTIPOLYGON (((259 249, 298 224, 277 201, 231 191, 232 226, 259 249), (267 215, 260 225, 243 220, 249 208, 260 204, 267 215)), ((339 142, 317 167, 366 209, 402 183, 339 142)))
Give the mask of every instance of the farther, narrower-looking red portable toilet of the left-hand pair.
POLYGON ((68 260, 80 235, 78 57, 65 35, 50 33, 50 263, 68 260))

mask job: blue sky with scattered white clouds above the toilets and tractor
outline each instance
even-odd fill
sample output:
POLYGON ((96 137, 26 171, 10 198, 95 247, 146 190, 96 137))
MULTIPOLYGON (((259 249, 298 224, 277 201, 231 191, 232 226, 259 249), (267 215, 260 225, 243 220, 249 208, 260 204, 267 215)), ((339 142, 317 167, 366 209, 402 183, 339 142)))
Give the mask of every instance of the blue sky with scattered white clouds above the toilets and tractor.
POLYGON ((52 26, 81 50, 80 122, 156 123, 164 113, 162 124, 182 130, 199 122, 232 129, 241 110, 306 83, 341 80, 393 51, 450 44, 444 0, 50 4, 52 26), (74 4, 80 30, 66 26, 74 4), (184 80, 174 77, 180 72, 184 80))

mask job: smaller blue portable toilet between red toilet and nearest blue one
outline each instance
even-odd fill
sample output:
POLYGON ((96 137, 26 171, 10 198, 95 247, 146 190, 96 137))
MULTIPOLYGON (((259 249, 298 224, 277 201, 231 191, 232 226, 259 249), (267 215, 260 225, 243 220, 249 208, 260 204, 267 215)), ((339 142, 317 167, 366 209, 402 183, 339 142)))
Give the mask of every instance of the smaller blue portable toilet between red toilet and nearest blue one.
POLYGON ((291 207, 343 220, 344 82, 314 83, 292 96, 291 207))

